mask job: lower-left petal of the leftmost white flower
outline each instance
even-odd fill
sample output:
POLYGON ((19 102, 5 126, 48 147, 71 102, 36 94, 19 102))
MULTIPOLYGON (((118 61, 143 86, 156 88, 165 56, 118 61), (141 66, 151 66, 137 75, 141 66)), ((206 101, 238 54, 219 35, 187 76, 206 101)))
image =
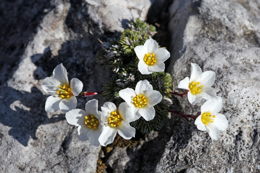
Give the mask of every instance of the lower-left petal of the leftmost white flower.
POLYGON ((59 95, 51 95, 47 98, 45 103, 45 111, 46 112, 56 112, 60 110, 59 104, 62 98, 59 95))

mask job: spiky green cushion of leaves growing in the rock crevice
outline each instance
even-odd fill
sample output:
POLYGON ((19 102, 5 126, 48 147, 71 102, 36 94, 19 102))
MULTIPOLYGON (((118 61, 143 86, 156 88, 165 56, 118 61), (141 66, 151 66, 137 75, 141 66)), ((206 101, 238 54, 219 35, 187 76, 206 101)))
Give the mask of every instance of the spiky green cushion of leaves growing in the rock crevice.
POLYGON ((163 127, 168 116, 169 97, 171 97, 172 77, 169 73, 154 72, 143 75, 138 71, 139 59, 135 55, 134 48, 143 45, 155 33, 153 25, 140 19, 132 20, 129 23, 129 28, 125 29, 117 40, 109 39, 108 42, 104 42, 102 49, 97 53, 98 59, 109 65, 115 73, 101 91, 102 96, 112 101, 116 106, 124 102, 119 97, 119 91, 125 88, 135 89, 135 85, 140 80, 148 80, 153 89, 163 95, 162 101, 155 106, 156 113, 153 120, 146 121, 141 117, 131 123, 132 127, 143 134, 163 127))

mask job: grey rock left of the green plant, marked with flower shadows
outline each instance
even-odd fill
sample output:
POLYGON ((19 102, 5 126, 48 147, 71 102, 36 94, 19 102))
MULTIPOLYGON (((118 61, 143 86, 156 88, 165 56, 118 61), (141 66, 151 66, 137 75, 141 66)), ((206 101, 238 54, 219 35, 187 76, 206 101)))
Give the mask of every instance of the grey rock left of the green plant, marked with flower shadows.
MULTIPOLYGON (((95 172, 101 147, 77 139, 61 112, 46 113, 42 80, 63 63, 84 91, 99 91, 112 71, 95 61, 98 39, 145 20, 144 1, 43 0, 0 4, 0 172, 95 172)), ((102 97, 99 104, 103 105, 102 97)), ((93 99, 78 97, 77 108, 93 99)))

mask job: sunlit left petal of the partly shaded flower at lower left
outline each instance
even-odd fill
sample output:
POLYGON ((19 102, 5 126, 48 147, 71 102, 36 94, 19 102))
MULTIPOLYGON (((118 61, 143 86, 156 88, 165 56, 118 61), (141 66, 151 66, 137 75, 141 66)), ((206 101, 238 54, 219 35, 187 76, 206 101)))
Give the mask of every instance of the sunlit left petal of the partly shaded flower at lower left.
POLYGON ((66 113, 65 118, 69 124, 79 126, 85 124, 86 111, 81 109, 73 109, 66 113))

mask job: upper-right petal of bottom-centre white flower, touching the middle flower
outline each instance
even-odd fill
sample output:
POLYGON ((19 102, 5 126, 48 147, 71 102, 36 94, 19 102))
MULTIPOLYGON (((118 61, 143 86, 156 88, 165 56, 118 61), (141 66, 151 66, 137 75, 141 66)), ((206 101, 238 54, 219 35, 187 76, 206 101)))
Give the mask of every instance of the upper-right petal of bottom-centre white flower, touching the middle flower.
POLYGON ((118 112, 120 117, 127 121, 132 122, 134 119, 134 108, 129 106, 126 102, 123 102, 119 105, 118 112))

